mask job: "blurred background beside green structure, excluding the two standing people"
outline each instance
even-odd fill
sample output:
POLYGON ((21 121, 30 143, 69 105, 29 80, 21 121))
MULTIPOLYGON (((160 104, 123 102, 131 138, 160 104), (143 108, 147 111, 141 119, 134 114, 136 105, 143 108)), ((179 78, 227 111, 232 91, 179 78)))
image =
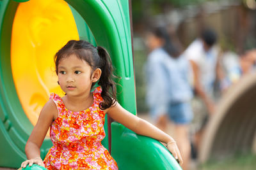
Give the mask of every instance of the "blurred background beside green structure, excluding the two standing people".
MULTIPOLYGON (((214 83, 216 108, 207 122, 207 134, 203 137, 207 139, 202 139, 196 153, 191 144, 189 169, 256 169, 255 0, 133 0, 131 3, 138 116, 154 123, 145 101, 145 63, 150 53, 145 45, 146 30, 166 27, 172 41, 184 52, 205 27, 211 28, 218 35, 216 45, 222 73, 214 83)), ((193 97, 196 96, 195 93, 193 97)), ((193 100, 191 105, 194 120, 189 125, 189 135, 193 136, 196 118, 202 110, 193 100)), ((172 120, 168 128, 172 135, 172 120)))

